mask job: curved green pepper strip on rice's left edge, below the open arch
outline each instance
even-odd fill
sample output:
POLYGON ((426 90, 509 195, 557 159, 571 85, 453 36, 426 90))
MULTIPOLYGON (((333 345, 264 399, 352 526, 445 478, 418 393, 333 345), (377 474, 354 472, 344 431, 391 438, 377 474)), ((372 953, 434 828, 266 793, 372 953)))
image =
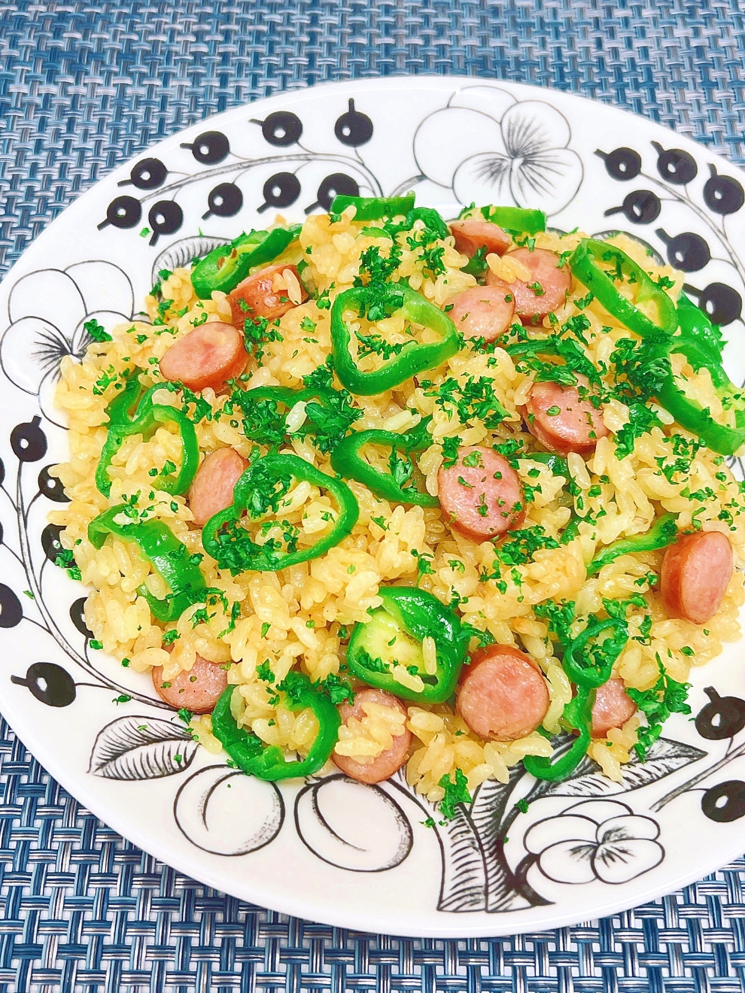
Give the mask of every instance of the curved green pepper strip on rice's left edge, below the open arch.
POLYGON ((208 594, 205 577, 199 565, 192 561, 187 546, 162 520, 131 524, 120 524, 114 520, 119 514, 126 514, 128 509, 122 503, 93 517, 88 524, 88 540, 95 548, 101 547, 108 534, 124 541, 133 541, 171 590, 163 600, 155 598, 145 586, 137 592, 146 598, 159 621, 176 621, 187 607, 205 600, 208 594))

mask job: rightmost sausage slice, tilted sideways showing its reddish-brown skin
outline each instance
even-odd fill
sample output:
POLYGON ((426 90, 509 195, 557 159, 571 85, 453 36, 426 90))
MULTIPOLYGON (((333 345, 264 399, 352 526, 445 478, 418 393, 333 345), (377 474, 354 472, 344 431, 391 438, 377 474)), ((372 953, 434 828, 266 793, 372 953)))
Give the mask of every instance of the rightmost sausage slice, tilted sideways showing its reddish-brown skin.
POLYGON ((660 573, 669 617, 705 624, 716 614, 732 578, 732 546, 720 531, 682 534, 670 545, 660 573))

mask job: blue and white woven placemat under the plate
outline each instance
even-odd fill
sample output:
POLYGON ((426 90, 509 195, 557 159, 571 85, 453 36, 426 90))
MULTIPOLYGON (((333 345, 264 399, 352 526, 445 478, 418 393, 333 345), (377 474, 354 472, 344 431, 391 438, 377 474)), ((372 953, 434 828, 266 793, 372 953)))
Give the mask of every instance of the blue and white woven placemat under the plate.
MULTIPOLYGON (((539 83, 743 162, 744 11, 741 0, 0 2, 0 271, 152 142, 326 79, 539 83)), ((0 993, 745 989, 742 860, 555 932, 380 937, 251 907, 158 863, 51 780, 2 721, 0 767, 0 993)))

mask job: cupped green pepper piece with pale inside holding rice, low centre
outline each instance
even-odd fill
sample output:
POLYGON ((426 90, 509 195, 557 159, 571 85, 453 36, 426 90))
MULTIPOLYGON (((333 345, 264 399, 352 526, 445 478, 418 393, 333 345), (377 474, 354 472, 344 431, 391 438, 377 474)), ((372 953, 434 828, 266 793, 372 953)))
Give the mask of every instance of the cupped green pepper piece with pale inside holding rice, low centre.
POLYGON ((384 586, 377 591, 382 606, 370 621, 358 624, 350 638, 347 664, 364 682, 415 703, 443 703, 452 695, 468 651, 470 634, 450 607, 425 590, 384 586), (424 669, 422 640, 434 638, 436 672, 424 669), (416 674, 424 686, 413 690, 393 674, 400 665, 416 674))

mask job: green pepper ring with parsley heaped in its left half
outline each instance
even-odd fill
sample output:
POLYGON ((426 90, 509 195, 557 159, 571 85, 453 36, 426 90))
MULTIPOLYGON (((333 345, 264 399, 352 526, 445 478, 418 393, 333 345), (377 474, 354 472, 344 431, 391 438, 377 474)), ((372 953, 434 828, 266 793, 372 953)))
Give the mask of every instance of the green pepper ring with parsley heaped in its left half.
POLYGON ((289 475, 293 479, 307 480, 313 486, 330 491, 339 504, 340 513, 331 531, 311 545, 310 548, 281 555, 267 552, 257 553, 255 565, 246 568, 255 569, 256 572, 277 572, 279 569, 288 569, 292 565, 308 562, 320 555, 325 555, 330 548, 338 545, 352 532, 360 516, 360 506, 346 483, 329 476, 328 473, 322 472, 297 455, 286 452, 270 453, 257 459, 243 471, 233 489, 233 502, 211 517, 202 528, 202 543, 205 551, 216 561, 219 562, 221 559, 221 542, 218 532, 224 524, 237 520, 247 506, 248 501, 244 497, 251 492, 252 471, 255 472, 255 467, 258 465, 261 465, 262 470, 274 473, 278 479, 289 475))

